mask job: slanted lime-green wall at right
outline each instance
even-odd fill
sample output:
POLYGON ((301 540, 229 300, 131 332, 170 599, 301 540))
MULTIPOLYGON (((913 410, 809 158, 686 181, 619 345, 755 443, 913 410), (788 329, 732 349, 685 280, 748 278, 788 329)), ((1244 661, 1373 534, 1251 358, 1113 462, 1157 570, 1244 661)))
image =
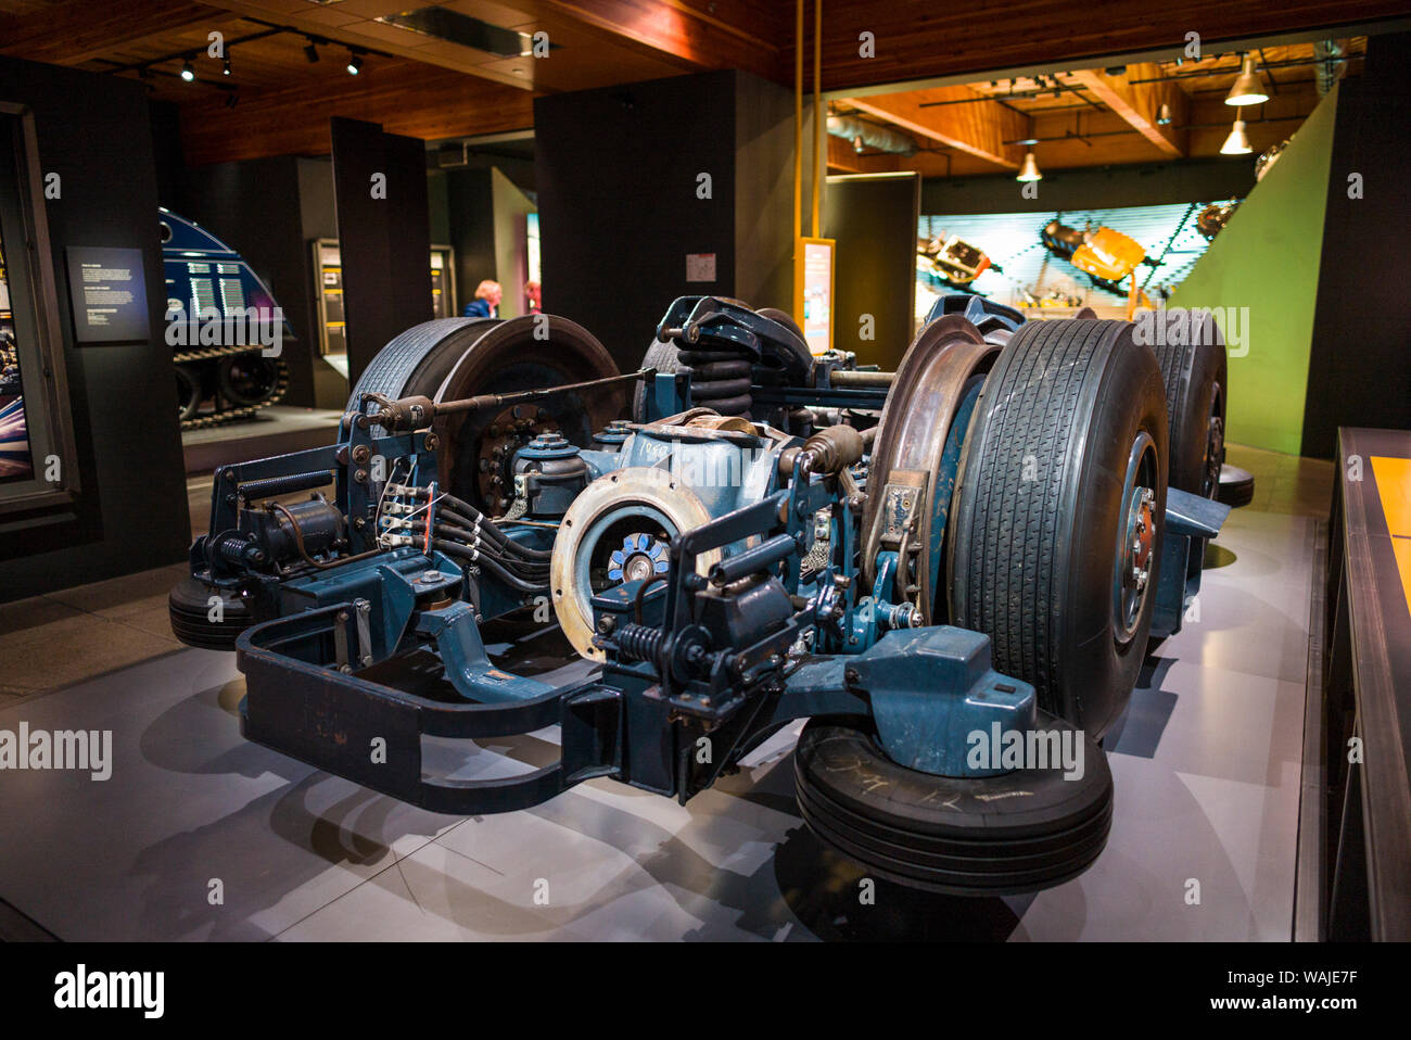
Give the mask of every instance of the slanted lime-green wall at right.
POLYGON ((1226 416, 1239 445, 1300 450, 1336 109, 1333 89, 1168 303, 1239 316, 1223 322, 1226 339, 1242 339, 1229 349, 1226 416))

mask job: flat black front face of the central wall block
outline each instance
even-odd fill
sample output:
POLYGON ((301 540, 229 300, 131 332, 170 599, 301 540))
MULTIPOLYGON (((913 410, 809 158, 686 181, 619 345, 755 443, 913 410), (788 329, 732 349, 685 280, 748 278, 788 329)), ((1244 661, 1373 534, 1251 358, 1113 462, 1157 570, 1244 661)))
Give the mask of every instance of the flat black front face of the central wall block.
POLYGON ((735 292, 737 75, 535 100, 543 308, 587 327, 619 368, 641 363, 676 296, 735 292), (703 172, 710 199, 697 198, 703 172), (714 282, 686 281, 690 253, 715 254, 714 282))

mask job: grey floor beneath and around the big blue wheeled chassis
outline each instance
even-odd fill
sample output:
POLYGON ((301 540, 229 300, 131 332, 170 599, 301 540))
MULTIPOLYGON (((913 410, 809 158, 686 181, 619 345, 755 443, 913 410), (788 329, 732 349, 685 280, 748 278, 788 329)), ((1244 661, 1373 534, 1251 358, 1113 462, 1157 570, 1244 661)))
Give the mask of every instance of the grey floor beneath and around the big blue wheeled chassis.
MULTIPOLYGON (((411 809, 240 738, 231 656, 165 631, 174 567, 0 607, 0 728, 111 730, 114 756, 106 782, 0 773, 0 899, 71 940, 1287 940, 1312 518, 1332 467, 1230 454, 1254 504, 1108 741, 1108 849, 1061 888, 964 900, 882 883, 859 905, 859 869, 794 810, 796 730, 687 806, 604 780, 507 816, 411 809)), ((556 739, 495 741, 463 770, 532 769, 556 739)))

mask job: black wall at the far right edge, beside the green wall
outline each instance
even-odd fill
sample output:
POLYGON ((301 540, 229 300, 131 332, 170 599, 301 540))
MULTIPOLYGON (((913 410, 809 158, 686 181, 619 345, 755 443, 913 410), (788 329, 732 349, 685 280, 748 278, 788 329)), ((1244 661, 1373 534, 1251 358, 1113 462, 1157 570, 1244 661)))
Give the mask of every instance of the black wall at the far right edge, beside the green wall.
POLYGON ((1321 459, 1339 426, 1411 429, 1411 34, 1370 37, 1338 93, 1301 449, 1321 459))

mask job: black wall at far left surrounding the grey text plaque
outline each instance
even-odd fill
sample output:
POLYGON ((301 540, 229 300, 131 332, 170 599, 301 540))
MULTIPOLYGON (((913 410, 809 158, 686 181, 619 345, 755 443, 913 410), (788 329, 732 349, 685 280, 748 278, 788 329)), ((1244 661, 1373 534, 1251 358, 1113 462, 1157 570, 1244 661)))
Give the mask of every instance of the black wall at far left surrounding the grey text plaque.
MULTIPOLYGON (((186 557, 181 436, 171 347, 162 336, 162 258, 151 117, 141 83, 0 58, 0 99, 28 106, 45 176, 80 490, 62 512, 0 519, 0 601, 128 574, 186 557), (141 250, 148 339, 78 346, 66 250, 141 250)), ((7 243, 8 244, 8 243, 7 243)), ((8 258, 18 262, 18 258, 8 258)))

